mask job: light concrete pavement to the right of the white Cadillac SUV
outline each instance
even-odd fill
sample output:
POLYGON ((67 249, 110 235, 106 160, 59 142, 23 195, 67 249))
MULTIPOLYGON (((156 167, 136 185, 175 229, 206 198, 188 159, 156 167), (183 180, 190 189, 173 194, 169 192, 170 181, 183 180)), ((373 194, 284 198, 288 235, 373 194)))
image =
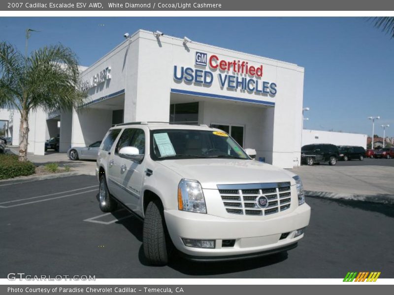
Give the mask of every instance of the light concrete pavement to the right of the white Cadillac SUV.
POLYGON ((292 171, 301 177, 307 196, 394 205, 394 167, 315 165, 292 171))

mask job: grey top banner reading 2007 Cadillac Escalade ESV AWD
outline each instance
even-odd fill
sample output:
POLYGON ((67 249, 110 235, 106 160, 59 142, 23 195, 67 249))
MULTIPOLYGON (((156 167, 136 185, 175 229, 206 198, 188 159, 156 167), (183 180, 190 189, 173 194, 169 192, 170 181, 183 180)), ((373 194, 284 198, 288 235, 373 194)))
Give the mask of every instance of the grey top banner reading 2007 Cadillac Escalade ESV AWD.
POLYGON ((0 11, 394 11, 392 0, 31 0, 0 2, 0 11))

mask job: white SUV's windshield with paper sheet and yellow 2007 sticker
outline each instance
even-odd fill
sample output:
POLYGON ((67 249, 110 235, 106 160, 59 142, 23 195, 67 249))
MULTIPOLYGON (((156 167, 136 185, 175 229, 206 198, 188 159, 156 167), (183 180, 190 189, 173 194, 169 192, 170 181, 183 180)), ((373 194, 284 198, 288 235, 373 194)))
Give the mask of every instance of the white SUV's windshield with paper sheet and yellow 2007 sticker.
POLYGON ((249 159, 225 132, 206 130, 153 130, 151 155, 154 160, 174 158, 249 159))

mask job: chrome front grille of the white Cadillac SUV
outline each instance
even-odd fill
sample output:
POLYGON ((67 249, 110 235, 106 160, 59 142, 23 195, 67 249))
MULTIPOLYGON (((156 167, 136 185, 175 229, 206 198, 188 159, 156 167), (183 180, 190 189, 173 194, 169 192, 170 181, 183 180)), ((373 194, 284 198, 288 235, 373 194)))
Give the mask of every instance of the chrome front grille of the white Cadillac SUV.
POLYGON ((290 182, 218 185, 226 211, 230 214, 266 216, 290 208, 290 182), (268 205, 258 205, 264 196, 268 205))

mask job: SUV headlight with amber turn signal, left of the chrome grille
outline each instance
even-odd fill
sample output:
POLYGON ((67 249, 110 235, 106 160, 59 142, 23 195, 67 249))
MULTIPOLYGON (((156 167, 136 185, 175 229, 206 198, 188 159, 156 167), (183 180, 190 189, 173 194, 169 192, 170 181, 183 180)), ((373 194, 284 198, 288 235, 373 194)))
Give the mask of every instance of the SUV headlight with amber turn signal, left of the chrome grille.
POLYGON ((206 213, 201 184, 197 180, 182 179, 178 185, 179 210, 206 213))

